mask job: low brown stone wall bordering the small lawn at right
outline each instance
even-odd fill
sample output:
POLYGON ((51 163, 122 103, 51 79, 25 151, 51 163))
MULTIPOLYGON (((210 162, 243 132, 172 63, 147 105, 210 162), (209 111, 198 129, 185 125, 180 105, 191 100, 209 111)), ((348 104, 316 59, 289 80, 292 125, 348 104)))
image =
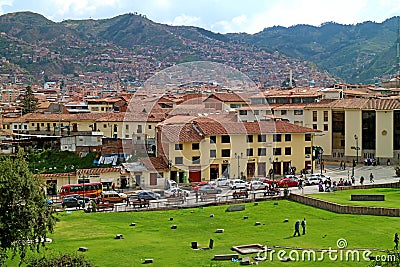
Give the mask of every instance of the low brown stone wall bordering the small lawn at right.
MULTIPOLYGON (((346 186, 340 187, 339 190, 349 189, 366 189, 366 188, 398 188, 400 183, 389 184, 371 184, 359 186, 346 186)), ((360 215, 377 215, 377 216, 390 216, 399 217, 400 209, 398 208, 381 208, 381 207, 364 207, 364 206, 349 206, 341 205, 330 201, 325 201, 309 196, 302 196, 297 194, 290 194, 289 199, 312 207, 329 210, 341 214, 360 214, 360 215)))

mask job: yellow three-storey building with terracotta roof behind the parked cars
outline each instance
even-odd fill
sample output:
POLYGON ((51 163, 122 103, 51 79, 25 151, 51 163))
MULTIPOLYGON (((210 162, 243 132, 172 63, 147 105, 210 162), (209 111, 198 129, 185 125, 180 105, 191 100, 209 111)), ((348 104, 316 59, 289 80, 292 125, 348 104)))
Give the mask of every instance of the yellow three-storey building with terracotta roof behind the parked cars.
POLYGON ((237 122, 234 114, 180 117, 157 127, 158 152, 178 182, 225 176, 266 177, 311 166, 311 140, 318 130, 284 121, 237 122))

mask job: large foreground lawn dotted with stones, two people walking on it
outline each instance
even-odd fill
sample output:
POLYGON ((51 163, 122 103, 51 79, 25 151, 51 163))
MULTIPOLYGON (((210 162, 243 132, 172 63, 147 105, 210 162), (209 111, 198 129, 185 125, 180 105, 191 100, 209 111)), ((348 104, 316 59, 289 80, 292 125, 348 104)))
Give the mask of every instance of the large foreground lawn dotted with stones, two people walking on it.
MULTIPOLYGON (((345 238, 348 248, 393 247, 393 235, 399 230, 399 218, 340 215, 291 201, 266 201, 259 205, 245 204, 246 210, 226 212, 226 206, 194 209, 83 213, 60 213, 55 233, 45 253, 75 252, 81 246, 89 248, 84 255, 97 266, 143 266, 145 258, 153 258, 150 266, 238 266, 230 261, 212 261, 215 254, 232 253, 235 245, 259 243, 270 246, 290 246, 314 249, 336 249, 339 238, 345 238), (210 217, 214 214, 214 217, 210 217), (244 219, 248 216, 248 219, 244 219), (307 234, 293 237, 294 222, 307 219, 307 234), (173 218, 173 221, 170 221, 173 218), (285 223, 284 219, 289 222, 285 223), (130 226, 135 222, 136 226, 130 226), (255 226, 255 222, 261 225, 255 226), (171 229, 176 224, 177 229, 171 229), (224 228, 224 233, 215 233, 224 228), (124 239, 114 239, 123 234, 124 239), (208 246, 214 239, 214 249, 195 251, 191 242, 208 246)), ((328 257, 321 262, 299 261, 286 266, 368 266, 370 262, 335 262, 328 257)), ((9 266, 12 264, 10 263, 9 266)), ((273 261, 259 266, 283 265, 274 255, 273 261)))

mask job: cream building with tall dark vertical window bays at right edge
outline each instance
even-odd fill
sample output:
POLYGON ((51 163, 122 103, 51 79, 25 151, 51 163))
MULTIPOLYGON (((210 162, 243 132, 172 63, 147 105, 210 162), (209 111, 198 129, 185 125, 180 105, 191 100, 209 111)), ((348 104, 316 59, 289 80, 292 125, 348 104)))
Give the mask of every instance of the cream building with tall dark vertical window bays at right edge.
POLYGON ((315 145, 328 160, 399 161, 399 99, 322 100, 305 107, 304 122, 322 131, 315 145))

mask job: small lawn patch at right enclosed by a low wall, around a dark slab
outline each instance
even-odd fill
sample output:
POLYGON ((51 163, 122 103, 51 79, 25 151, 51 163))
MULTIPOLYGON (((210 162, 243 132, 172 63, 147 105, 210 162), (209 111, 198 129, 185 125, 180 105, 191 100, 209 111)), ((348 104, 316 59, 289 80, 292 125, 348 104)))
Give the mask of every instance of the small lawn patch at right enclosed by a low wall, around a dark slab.
POLYGON ((312 194, 309 196, 342 205, 400 208, 400 188, 342 190, 332 193, 312 194), (350 196, 352 194, 384 194, 385 201, 351 201, 350 196))

